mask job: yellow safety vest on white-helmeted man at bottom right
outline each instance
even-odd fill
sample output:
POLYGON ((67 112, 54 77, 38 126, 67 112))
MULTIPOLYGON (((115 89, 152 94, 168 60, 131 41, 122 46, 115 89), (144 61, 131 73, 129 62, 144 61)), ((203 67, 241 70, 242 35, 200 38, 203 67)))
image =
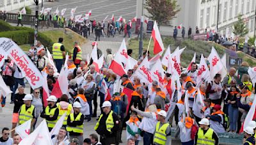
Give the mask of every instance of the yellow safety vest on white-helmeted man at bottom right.
POLYGON ((197 133, 197 144, 213 144, 214 145, 214 139, 212 139, 213 130, 212 128, 209 128, 207 132, 204 135, 204 130, 202 128, 198 128, 197 133))

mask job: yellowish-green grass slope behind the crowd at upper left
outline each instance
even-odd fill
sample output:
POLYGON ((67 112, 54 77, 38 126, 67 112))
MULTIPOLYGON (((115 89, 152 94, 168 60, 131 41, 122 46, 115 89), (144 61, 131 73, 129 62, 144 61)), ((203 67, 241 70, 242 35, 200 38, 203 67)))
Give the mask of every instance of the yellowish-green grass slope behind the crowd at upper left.
POLYGON ((77 41, 80 46, 84 45, 87 42, 87 40, 83 38, 83 36, 77 34, 76 32, 70 31, 69 29, 66 30, 66 32, 64 32, 63 30, 52 30, 42 31, 42 33, 45 34, 48 38, 52 39, 54 43, 58 42, 58 39, 62 37, 63 45, 65 46, 65 50, 68 53, 72 52, 74 41, 77 41))

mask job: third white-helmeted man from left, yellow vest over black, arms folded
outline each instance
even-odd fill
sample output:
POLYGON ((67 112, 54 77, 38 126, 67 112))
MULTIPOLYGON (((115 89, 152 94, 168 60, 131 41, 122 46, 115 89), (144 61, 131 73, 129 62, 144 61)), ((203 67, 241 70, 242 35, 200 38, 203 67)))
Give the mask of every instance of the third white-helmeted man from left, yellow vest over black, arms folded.
POLYGON ((74 113, 69 114, 67 119, 67 132, 69 132, 70 140, 77 138, 79 144, 83 144, 84 132, 84 115, 81 113, 81 104, 74 102, 74 113))

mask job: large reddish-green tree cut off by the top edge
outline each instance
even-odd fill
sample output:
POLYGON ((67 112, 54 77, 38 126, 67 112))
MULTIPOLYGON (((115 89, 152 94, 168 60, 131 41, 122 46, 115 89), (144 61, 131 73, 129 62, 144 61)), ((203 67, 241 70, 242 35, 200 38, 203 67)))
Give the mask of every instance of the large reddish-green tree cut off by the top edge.
POLYGON ((158 25, 168 23, 180 11, 176 0, 146 0, 144 6, 150 14, 146 17, 156 20, 158 25))

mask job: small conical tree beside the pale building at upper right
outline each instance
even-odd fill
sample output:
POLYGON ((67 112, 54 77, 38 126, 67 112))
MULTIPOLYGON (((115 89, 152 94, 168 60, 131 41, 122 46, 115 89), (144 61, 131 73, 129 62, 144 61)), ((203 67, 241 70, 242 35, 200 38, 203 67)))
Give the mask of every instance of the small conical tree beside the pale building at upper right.
POLYGON ((243 15, 241 15, 241 14, 238 15, 238 20, 234 24, 234 27, 233 27, 233 33, 239 37, 244 37, 249 32, 249 29, 246 27, 246 24, 242 17, 243 17, 243 15))

